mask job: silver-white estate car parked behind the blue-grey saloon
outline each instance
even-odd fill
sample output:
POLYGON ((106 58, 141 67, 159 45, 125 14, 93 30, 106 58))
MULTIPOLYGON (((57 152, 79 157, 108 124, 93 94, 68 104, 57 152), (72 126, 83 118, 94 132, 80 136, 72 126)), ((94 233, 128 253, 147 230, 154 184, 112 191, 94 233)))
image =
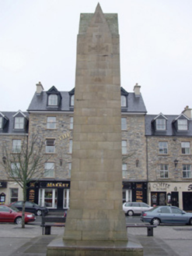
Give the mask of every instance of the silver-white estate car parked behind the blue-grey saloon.
POLYGON ((151 206, 142 202, 125 202, 123 204, 123 211, 129 216, 141 214, 141 212, 148 211, 150 209, 152 209, 151 206))

